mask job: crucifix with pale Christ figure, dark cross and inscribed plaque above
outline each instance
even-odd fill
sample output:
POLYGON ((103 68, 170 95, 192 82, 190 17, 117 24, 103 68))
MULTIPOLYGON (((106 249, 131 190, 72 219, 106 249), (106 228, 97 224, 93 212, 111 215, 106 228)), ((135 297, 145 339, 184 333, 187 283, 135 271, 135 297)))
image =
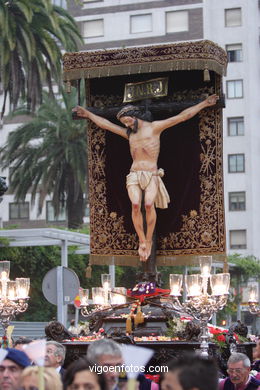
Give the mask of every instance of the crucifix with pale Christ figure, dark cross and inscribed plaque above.
MULTIPOLYGON (((77 106, 73 109, 73 115, 77 118, 85 118, 94 122, 99 128, 111 131, 125 138, 129 142, 132 156, 132 165, 127 175, 127 191, 132 204, 132 221, 139 239, 138 255, 141 262, 147 262, 151 257, 156 225, 156 209, 167 208, 170 198, 163 184, 163 170, 158 169, 157 160, 160 152, 161 133, 175 125, 187 121, 201 110, 216 106, 219 97, 217 95, 208 96, 206 99, 196 104, 187 104, 186 107, 178 108, 175 103, 150 103, 144 101, 144 95, 150 99, 154 92, 154 97, 165 96, 167 89, 161 84, 158 87, 158 79, 149 80, 146 87, 141 87, 142 83, 137 83, 137 89, 125 92, 125 101, 141 100, 141 104, 125 105, 123 107, 113 107, 112 109, 101 109, 99 112, 93 108, 83 108, 77 106), (154 82, 154 85, 153 85, 154 82), (139 88, 139 93, 138 93, 139 88), (143 103, 144 102, 144 103, 143 103), (187 108, 188 106, 188 108, 187 108), (148 109, 149 108, 149 109, 148 109), (176 111, 181 110, 177 115, 169 116, 163 120, 152 121, 150 111, 176 111), (119 121, 120 125, 108 120, 111 114, 119 121), (123 125, 123 126, 122 126, 123 125), (142 211, 143 204, 143 211, 142 211)), ((133 84, 130 84, 133 86, 133 84)), ((218 105, 219 106, 219 105, 218 105)), ((173 130, 172 130, 173 131, 173 130)), ((155 255, 155 250, 153 250, 155 255)))

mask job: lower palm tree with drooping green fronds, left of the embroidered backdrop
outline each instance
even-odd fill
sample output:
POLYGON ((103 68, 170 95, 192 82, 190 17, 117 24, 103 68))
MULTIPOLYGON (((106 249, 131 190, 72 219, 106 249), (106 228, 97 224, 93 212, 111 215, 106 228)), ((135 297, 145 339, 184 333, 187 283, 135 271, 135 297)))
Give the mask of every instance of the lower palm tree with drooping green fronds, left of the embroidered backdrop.
MULTIPOLYGON (((3 168, 12 167, 10 190, 17 200, 30 191, 32 203, 39 194, 38 211, 46 195, 51 194, 55 215, 66 203, 68 227, 83 223, 87 178, 87 135, 85 121, 74 121, 71 109, 76 91, 61 91, 59 98, 43 92, 43 104, 30 122, 9 134, 0 149, 3 168)), ((19 109, 17 115, 28 114, 19 109)))

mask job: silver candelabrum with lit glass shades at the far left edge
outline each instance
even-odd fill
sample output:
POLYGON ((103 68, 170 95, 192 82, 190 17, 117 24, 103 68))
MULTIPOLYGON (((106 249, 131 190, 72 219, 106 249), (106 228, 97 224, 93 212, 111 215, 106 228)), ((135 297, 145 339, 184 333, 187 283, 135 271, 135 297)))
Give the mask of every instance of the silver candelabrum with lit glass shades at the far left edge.
POLYGON ((10 261, 0 261, 0 323, 4 329, 4 337, 10 321, 28 308, 30 279, 9 279, 10 261))

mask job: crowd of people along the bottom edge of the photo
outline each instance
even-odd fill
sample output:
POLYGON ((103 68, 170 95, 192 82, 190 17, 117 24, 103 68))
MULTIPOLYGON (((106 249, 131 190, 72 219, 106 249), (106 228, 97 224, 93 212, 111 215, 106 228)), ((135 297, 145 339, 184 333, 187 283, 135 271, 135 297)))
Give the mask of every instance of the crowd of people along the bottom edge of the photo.
MULTIPOLYGON (((0 390, 39 390, 40 367, 24 352, 30 340, 17 340, 0 362, 0 390)), ((127 390, 127 374, 117 367, 124 364, 122 349, 112 339, 92 342, 87 355, 63 368, 65 347, 46 343, 43 369, 45 390, 127 390), (98 369, 103 368, 103 369, 98 369), (106 368, 106 369, 104 369, 106 368)), ((139 372, 133 390, 260 390, 260 340, 251 362, 243 353, 232 353, 226 378, 220 378, 213 358, 187 355, 171 360, 159 375, 159 383, 139 372)), ((133 363, 135 363, 133 356, 133 363)))

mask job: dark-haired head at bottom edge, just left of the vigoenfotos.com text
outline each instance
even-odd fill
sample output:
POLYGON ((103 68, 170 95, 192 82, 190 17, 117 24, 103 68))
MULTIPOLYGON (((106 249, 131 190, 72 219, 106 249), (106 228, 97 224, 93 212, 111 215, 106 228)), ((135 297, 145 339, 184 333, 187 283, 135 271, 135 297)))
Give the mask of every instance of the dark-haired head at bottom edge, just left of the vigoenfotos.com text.
POLYGON ((64 390, 106 390, 106 380, 102 373, 92 370, 91 363, 80 358, 70 364, 64 377, 64 390))

